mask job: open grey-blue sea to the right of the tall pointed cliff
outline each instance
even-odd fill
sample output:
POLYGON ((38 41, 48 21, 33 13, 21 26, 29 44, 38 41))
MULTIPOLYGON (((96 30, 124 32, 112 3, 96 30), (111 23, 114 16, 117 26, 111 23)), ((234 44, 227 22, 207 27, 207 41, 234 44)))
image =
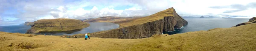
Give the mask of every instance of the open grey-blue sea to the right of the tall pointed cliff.
POLYGON ((249 21, 250 18, 184 18, 188 25, 173 32, 164 32, 169 35, 184 32, 209 30, 213 28, 230 28, 236 24, 249 21))

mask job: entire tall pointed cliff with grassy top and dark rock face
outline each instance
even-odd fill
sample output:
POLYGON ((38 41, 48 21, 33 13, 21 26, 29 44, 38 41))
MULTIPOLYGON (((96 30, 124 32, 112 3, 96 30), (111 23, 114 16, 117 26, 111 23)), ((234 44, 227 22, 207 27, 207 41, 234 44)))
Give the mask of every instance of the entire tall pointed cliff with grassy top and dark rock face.
POLYGON ((186 20, 176 13, 174 8, 168 8, 150 16, 116 23, 119 24, 119 28, 94 32, 91 36, 120 39, 148 38, 154 34, 174 31, 175 28, 180 28, 188 24, 186 20))

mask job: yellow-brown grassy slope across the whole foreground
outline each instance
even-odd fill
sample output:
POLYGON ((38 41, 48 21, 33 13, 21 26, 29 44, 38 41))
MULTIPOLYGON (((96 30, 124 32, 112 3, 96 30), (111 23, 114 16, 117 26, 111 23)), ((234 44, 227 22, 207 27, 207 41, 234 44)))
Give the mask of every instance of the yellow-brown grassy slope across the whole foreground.
POLYGON ((1 51, 255 51, 256 23, 143 39, 61 38, 0 32, 1 51))

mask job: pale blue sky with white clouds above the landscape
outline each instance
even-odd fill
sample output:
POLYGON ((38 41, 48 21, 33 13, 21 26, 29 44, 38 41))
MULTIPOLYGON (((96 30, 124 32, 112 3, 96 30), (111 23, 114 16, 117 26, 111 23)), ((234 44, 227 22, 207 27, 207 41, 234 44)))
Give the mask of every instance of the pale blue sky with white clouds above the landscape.
POLYGON ((38 19, 149 16, 171 7, 180 16, 256 16, 256 0, 0 0, 0 26, 38 19))

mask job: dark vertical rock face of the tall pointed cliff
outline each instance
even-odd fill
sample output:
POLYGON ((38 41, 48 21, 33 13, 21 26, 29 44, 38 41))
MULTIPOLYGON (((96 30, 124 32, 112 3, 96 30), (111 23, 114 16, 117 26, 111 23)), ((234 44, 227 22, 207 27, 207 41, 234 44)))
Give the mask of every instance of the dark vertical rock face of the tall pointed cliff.
POLYGON ((157 21, 117 28, 105 32, 94 32, 91 33, 91 37, 120 39, 147 38, 154 34, 173 31, 175 28, 187 25, 187 23, 188 22, 181 18, 174 10, 173 16, 165 16, 163 19, 157 21))

